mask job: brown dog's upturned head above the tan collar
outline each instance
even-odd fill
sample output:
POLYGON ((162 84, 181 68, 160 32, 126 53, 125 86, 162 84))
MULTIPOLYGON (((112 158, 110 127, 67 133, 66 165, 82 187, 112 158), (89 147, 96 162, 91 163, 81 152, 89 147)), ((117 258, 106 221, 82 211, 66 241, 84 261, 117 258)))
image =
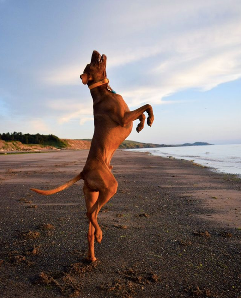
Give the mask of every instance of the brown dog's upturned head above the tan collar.
POLYGON ((80 75, 82 83, 90 86, 106 78, 106 56, 102 56, 97 51, 93 51, 91 62, 85 67, 80 75))

